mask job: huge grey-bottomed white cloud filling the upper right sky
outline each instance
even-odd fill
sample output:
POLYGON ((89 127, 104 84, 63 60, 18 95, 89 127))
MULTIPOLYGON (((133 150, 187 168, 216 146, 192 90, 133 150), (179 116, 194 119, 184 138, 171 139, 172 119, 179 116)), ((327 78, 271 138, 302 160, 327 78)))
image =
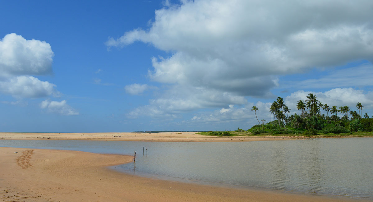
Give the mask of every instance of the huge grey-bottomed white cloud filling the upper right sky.
POLYGON ((370 0, 168 2, 156 10, 149 29, 109 38, 106 45, 123 47, 141 41, 171 53, 152 59, 149 77, 173 85, 177 92, 167 91, 144 110, 176 113, 222 107, 220 99, 211 103, 208 96, 194 95, 204 89, 229 96, 231 102, 224 104, 242 104, 245 96, 270 97, 279 75, 372 61, 372 7, 370 0), (195 100, 173 96, 181 91, 195 100))

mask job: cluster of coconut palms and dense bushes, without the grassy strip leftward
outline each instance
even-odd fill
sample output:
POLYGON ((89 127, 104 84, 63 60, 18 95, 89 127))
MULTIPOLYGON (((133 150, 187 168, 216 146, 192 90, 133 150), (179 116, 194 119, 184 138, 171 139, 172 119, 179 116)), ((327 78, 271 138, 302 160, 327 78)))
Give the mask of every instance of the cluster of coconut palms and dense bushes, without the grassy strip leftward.
MULTIPOLYGON (((297 102, 297 110, 300 114, 289 116, 290 110, 282 97, 273 101, 269 112, 271 121, 269 123, 260 123, 256 111, 258 107, 253 106, 258 125, 253 126, 252 130, 258 133, 304 133, 309 130, 312 133, 317 132, 350 132, 350 131, 372 131, 373 119, 369 118, 367 113, 363 115, 364 106, 361 102, 356 103, 356 110, 350 110, 349 106, 329 106, 317 100, 316 95, 310 93, 306 99, 297 102), (326 112, 326 116, 322 111, 326 112), (330 116, 329 116, 330 113, 330 116), (322 131, 325 129, 324 131, 322 131), (337 129, 337 130, 336 130, 337 129)), ((372 116, 373 118, 373 116, 372 116)))

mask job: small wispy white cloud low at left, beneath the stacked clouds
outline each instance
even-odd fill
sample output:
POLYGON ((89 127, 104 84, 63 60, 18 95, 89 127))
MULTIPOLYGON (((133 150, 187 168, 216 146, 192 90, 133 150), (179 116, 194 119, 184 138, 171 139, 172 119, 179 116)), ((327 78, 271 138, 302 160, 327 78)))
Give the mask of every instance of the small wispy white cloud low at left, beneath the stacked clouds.
POLYGON ((79 115, 72 107, 66 104, 66 100, 61 102, 44 100, 40 104, 40 108, 46 109, 50 113, 57 113, 62 115, 79 115))

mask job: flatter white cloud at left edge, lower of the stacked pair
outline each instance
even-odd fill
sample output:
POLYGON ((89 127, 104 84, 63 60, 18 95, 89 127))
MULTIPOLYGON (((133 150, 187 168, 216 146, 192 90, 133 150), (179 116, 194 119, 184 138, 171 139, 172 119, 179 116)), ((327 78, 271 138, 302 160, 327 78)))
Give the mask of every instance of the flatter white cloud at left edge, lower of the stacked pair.
POLYGON ((56 85, 47 81, 40 81, 33 76, 17 76, 0 81, 0 91, 16 98, 40 98, 53 95, 58 97, 56 85))

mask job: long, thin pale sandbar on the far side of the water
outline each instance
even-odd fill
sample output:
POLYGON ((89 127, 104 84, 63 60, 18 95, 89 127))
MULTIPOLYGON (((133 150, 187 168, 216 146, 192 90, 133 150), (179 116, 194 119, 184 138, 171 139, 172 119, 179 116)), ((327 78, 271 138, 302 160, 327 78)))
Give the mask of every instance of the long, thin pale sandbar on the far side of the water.
POLYGON ((162 142, 238 142, 289 140, 289 137, 217 137, 199 135, 196 132, 167 133, 0 133, 6 139, 70 139, 70 140, 112 140, 112 141, 162 141, 162 142))

